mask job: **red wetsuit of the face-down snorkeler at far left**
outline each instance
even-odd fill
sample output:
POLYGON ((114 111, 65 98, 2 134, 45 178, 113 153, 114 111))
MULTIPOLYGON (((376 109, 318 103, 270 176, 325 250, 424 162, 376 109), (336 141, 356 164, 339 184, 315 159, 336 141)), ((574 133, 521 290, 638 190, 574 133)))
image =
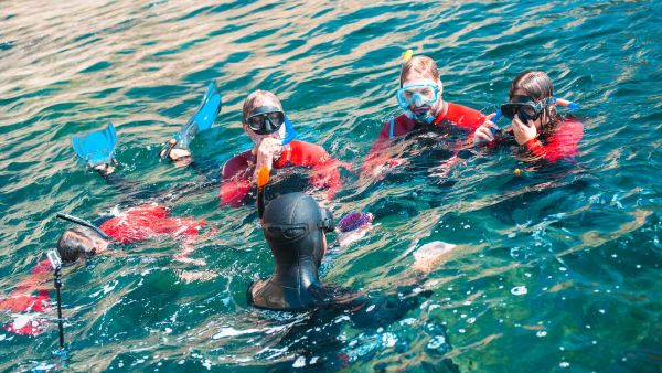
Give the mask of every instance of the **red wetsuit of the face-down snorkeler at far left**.
MULTIPOLYGON (((192 217, 170 217, 166 207, 146 204, 107 220, 99 228, 118 243, 127 244, 159 235, 197 236, 204 225, 204 221, 192 217)), ((49 279, 50 271, 49 260, 42 260, 15 290, 7 298, 0 299, 0 309, 19 313, 14 321, 4 326, 7 331, 21 335, 36 335, 45 330, 46 320, 41 316, 51 309, 51 302, 49 289, 43 285, 49 279)))

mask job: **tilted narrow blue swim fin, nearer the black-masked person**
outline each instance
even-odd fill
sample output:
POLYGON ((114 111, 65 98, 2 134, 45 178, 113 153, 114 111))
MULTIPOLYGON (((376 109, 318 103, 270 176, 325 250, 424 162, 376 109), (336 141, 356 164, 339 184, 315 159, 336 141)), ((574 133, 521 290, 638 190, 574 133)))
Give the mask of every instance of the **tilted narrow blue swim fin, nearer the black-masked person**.
POLYGON ((207 85, 207 92, 202 99, 202 104, 200 104, 193 117, 182 126, 175 147, 189 149, 189 145, 193 141, 195 135, 210 129, 216 120, 218 113, 221 113, 221 93, 216 87, 216 83, 212 81, 207 85))

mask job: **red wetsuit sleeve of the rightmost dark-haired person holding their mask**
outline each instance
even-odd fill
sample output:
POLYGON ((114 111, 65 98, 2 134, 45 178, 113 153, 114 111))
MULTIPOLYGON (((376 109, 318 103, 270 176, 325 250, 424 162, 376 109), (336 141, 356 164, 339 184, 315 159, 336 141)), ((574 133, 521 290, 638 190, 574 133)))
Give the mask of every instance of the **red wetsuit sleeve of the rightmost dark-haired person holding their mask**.
POLYGON ((577 120, 565 120, 556 128, 545 145, 538 139, 528 140, 524 146, 534 156, 548 162, 575 156, 578 152, 577 143, 584 136, 584 125, 577 120))

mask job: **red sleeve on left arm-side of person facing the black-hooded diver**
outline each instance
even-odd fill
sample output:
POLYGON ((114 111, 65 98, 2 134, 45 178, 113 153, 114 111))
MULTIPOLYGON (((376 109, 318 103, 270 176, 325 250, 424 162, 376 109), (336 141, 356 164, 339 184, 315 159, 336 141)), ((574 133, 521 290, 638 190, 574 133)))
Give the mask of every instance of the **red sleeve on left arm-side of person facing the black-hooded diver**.
POLYGON ((229 159, 221 171, 221 204, 238 207, 253 188, 252 167, 244 154, 229 159))

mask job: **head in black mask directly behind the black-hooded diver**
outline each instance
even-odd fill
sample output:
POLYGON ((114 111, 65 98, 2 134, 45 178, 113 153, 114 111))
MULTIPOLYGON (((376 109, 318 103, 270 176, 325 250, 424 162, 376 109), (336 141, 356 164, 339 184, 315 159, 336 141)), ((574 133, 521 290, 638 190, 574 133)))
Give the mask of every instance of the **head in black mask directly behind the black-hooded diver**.
MULTIPOLYGON (((285 126, 282 126, 282 121, 280 121, 280 125, 278 126, 276 122, 276 115, 277 115, 277 110, 279 110, 280 113, 284 114, 282 110, 282 104, 280 103, 280 99, 278 99, 278 97, 276 97, 275 94, 268 92, 268 90, 261 90, 261 89, 257 89, 253 93, 250 93, 248 95, 248 97, 246 97, 246 99, 244 100, 244 105, 243 105, 243 109, 242 109, 242 124, 244 125, 244 131, 250 137, 250 139, 253 140, 253 143, 255 145, 255 147, 259 147, 261 140, 264 138, 267 137, 274 137, 274 138, 285 138, 285 126), (273 110, 269 117, 267 117, 269 110, 273 110), (256 118, 252 118, 254 116, 257 116, 256 118), (260 132, 259 130, 254 130, 252 129, 253 126, 249 126, 248 121, 253 120, 253 119, 263 119, 264 122, 264 118, 261 118, 261 116, 264 116, 265 118, 270 118, 274 121, 275 127, 270 127, 267 126, 266 129, 268 130, 274 130, 276 129, 274 132, 271 134, 258 134, 260 132), (273 117, 273 118, 271 118, 273 117)), ((270 125, 270 122, 267 120, 267 122, 270 125)), ((259 127, 259 126, 258 126, 259 127)), ((255 127, 255 128, 258 128, 255 127)))

